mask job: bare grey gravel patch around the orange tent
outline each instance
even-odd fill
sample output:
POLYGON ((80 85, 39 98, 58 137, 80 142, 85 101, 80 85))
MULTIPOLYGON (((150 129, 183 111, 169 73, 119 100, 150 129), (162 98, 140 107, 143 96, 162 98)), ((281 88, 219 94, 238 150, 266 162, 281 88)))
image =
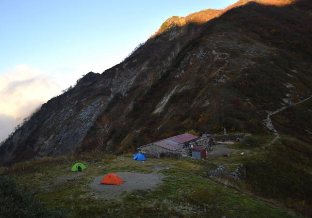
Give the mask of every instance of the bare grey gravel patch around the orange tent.
POLYGON ((121 200, 121 196, 126 192, 138 189, 145 190, 155 188, 162 183, 162 179, 165 177, 163 174, 157 172, 115 172, 115 174, 124 181, 124 184, 119 186, 100 184, 105 175, 97 176, 90 184, 90 186, 95 190, 93 193, 96 197, 118 201, 121 200))

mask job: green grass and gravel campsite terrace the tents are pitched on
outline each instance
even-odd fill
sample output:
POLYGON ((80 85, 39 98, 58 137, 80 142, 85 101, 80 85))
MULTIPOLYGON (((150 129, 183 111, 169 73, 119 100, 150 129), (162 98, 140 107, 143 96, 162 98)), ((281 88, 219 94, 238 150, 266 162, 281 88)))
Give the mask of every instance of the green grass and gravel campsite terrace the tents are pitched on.
POLYGON ((47 158, 40 164, 25 162, 20 166, 24 170, 12 169, 6 174, 33 190, 49 208, 65 210, 68 217, 294 217, 292 211, 208 176, 219 163, 234 169, 240 151, 229 158, 213 156, 206 161, 149 158, 139 162, 130 154, 103 156, 95 163, 83 158, 47 158), (75 162, 82 162, 87 169, 71 172, 75 162), (97 185, 111 172, 124 179, 124 186, 97 185))

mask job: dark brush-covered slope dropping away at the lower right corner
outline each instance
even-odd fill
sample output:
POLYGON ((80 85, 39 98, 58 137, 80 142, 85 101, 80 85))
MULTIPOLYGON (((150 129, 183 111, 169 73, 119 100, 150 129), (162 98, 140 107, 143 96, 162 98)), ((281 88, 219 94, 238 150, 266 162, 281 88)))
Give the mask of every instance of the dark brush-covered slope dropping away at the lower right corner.
POLYGON ((245 179, 249 189, 265 198, 277 199, 310 217, 312 215, 310 147, 309 144, 299 140, 281 138, 268 148, 265 156, 246 159, 245 179))

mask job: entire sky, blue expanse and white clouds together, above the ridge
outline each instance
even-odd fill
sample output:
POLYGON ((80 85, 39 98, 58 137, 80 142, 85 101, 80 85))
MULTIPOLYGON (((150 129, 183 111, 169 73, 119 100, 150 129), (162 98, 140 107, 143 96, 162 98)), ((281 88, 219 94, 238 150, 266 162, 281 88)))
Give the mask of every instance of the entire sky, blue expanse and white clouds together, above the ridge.
POLYGON ((237 0, 0 0, 0 141, 82 75, 121 62, 171 16, 237 0))

